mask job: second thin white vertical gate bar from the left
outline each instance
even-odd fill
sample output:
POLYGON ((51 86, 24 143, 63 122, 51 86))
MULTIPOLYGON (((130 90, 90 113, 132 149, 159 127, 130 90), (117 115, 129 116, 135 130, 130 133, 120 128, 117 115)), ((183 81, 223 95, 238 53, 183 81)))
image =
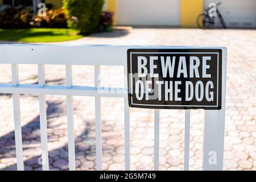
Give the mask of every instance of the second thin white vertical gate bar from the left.
MULTIPOLYGON (((46 86, 46 78, 44 73, 44 65, 38 65, 38 84, 39 87, 46 86)), ((42 150, 42 168, 43 171, 49 170, 48 160, 48 136, 47 136, 47 117, 46 117, 46 96, 39 95, 40 110, 40 134, 41 134, 41 150, 42 150)))

